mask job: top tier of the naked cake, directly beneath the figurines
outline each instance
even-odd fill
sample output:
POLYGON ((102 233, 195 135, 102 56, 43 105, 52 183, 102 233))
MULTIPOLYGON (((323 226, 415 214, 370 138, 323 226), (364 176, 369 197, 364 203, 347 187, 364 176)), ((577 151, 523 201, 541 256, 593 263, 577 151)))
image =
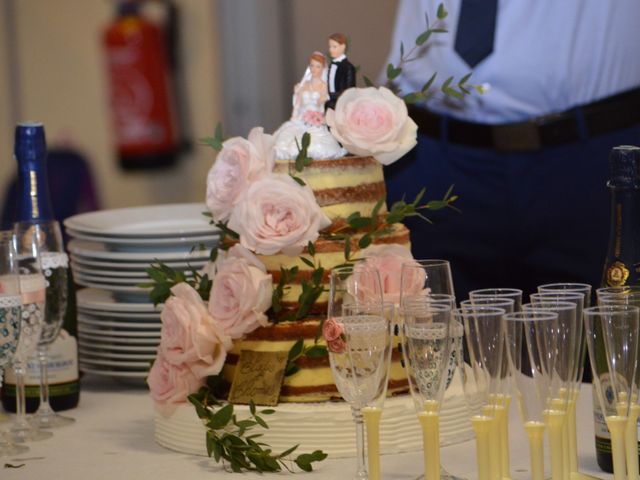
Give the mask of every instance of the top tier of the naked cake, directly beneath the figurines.
MULTIPOLYGON (((274 170, 302 178, 334 225, 354 212, 371 215, 386 192, 382 165, 373 157, 313 160, 302 172, 295 171, 293 161, 277 161, 274 170)), ((385 205, 380 209, 384 212, 385 205)))

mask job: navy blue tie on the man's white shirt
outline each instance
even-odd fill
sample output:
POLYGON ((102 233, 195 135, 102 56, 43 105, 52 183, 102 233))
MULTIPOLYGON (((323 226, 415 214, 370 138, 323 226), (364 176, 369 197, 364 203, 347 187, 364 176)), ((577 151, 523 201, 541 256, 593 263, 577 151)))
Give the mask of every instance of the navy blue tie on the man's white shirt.
POLYGON ((498 0, 461 0, 455 50, 470 67, 493 51, 498 0))

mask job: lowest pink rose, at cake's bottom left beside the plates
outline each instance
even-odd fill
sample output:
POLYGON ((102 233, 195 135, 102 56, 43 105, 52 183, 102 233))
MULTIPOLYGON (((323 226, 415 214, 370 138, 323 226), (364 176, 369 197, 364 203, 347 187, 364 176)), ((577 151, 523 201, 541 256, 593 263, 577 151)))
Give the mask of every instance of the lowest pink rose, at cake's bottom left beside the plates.
POLYGON ((151 398, 164 417, 171 416, 178 405, 186 403, 187 397, 202 384, 186 365, 172 365, 161 351, 147 377, 151 398))

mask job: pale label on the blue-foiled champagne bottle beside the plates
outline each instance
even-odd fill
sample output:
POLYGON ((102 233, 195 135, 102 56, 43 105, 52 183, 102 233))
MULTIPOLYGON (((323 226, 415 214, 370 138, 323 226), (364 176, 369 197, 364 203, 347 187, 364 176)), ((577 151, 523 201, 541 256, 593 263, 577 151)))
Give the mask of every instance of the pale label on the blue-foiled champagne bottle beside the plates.
MULTIPOLYGON (((58 338, 49 348, 48 374, 50 384, 63 384, 78 381, 78 349, 76 339, 65 330, 60 331, 58 338)), ((27 360, 25 387, 40 385, 40 363, 36 356, 27 360)), ((5 383, 15 385, 16 377, 12 368, 5 372, 5 383)), ((53 387, 51 387, 53 396, 53 387)))

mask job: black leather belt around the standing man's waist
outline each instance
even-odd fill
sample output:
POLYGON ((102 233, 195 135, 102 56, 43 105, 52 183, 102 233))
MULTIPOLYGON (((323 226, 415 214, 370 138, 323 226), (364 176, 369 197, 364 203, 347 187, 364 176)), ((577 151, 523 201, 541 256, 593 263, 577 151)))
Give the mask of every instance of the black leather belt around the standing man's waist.
POLYGON ((414 105, 418 131, 451 143, 504 152, 536 151, 640 123, 640 88, 526 122, 487 125, 443 117, 414 105))

